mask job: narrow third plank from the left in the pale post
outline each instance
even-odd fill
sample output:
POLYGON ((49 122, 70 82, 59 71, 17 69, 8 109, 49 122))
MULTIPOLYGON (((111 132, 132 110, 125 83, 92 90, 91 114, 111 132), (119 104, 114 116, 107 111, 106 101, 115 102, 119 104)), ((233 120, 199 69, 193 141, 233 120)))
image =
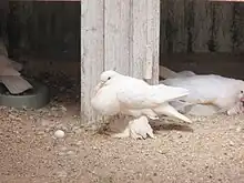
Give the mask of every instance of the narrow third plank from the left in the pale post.
POLYGON ((143 64, 146 60, 146 34, 148 16, 146 0, 133 0, 133 61, 131 63, 131 74, 134 78, 143 78, 143 64))

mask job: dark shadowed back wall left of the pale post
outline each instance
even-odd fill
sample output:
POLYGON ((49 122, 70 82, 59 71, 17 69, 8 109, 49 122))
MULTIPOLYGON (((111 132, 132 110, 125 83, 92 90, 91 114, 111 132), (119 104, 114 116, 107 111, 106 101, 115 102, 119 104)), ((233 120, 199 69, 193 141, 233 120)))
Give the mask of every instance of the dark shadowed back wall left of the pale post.
POLYGON ((63 60, 80 59, 79 2, 10 1, 9 9, 11 51, 63 60))

